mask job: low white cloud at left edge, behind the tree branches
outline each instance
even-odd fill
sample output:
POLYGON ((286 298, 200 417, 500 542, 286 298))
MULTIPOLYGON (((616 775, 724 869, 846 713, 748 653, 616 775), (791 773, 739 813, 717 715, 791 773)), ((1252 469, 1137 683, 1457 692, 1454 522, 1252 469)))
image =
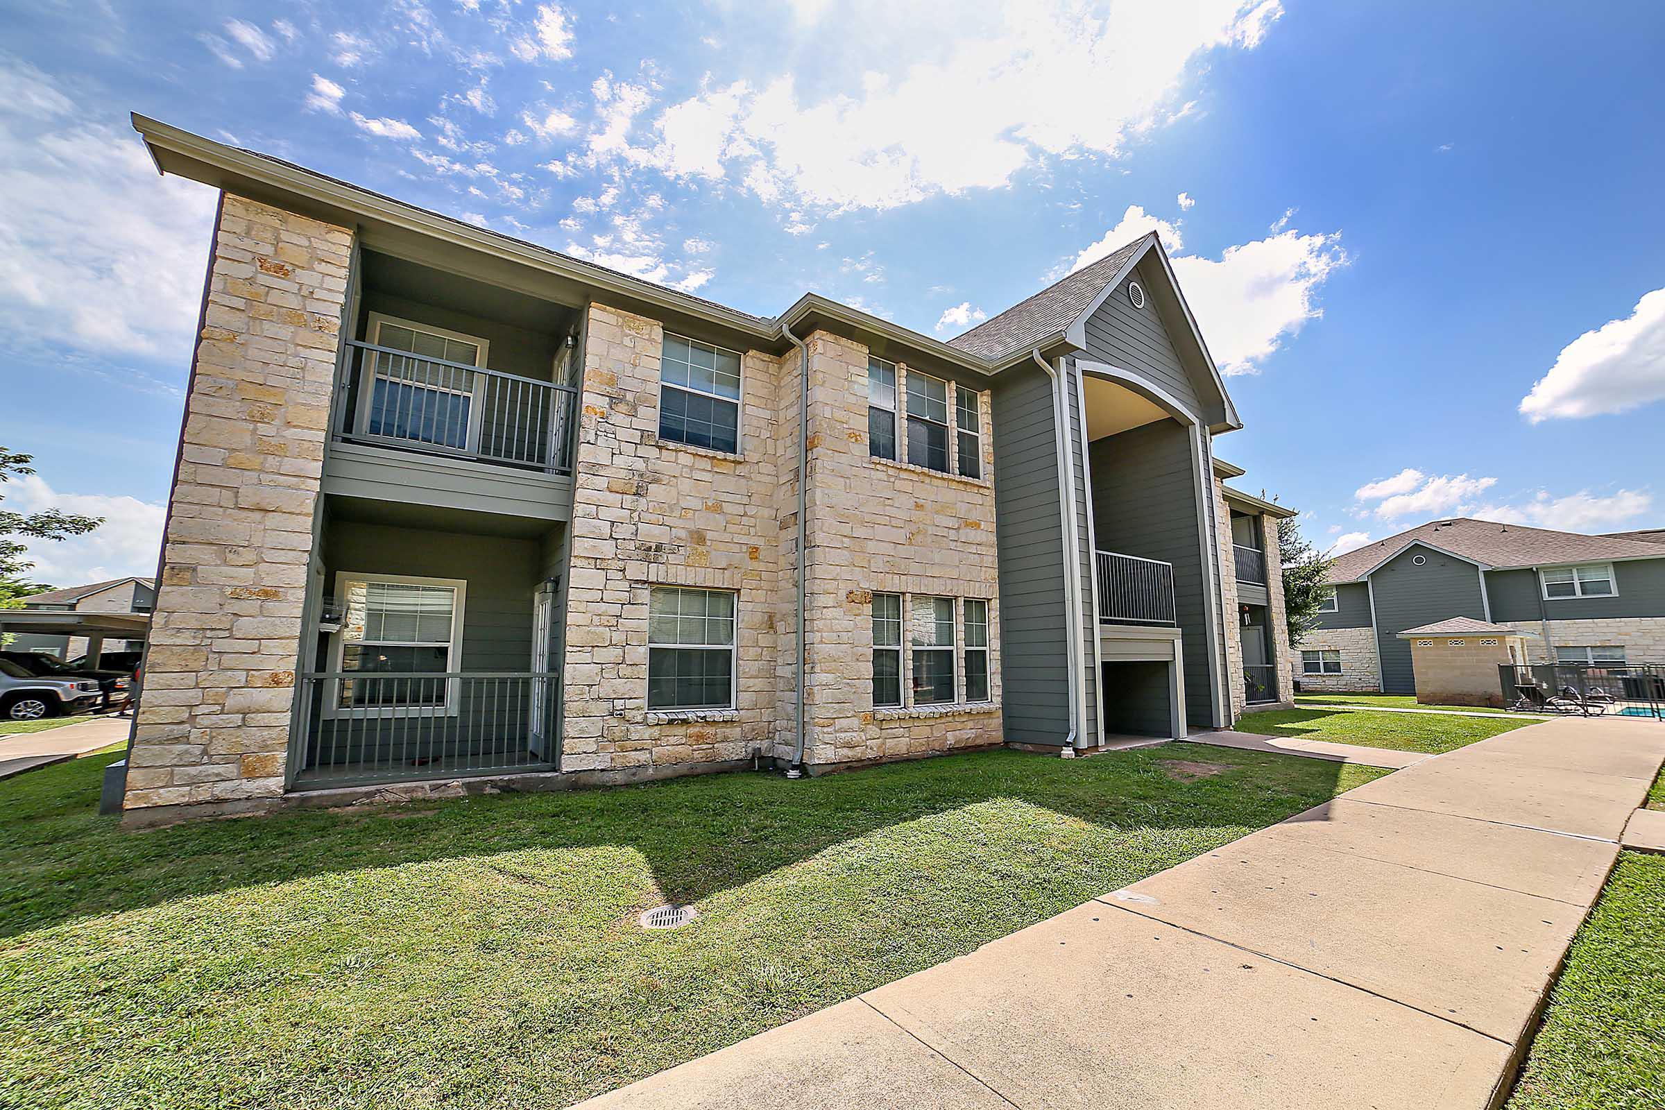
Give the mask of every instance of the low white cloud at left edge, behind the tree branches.
POLYGON ((148 577, 157 572, 166 506, 125 496, 58 493, 38 474, 7 483, 5 493, 5 506, 13 511, 62 509, 105 518, 87 536, 73 536, 63 543, 28 541, 27 557, 35 562, 35 569, 28 572, 30 581, 82 586, 125 574, 148 577))

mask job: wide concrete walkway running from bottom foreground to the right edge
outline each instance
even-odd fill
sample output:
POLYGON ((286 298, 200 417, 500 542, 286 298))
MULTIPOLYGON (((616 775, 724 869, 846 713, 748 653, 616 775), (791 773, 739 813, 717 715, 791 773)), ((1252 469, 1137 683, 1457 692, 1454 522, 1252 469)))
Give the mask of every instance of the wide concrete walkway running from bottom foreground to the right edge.
POLYGON ((581 1105, 1492 1107, 1662 759, 1480 741, 581 1105))

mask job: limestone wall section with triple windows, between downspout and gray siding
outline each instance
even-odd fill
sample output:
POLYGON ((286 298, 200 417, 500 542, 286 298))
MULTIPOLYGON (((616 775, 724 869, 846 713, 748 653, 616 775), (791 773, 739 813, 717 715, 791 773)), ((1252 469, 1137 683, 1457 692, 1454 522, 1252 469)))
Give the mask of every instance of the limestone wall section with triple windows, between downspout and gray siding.
MULTIPOLYGON (((977 404, 982 478, 874 459, 867 453, 867 348, 828 333, 816 333, 808 344, 811 734, 804 759, 824 766, 1001 744, 997 478, 989 394, 982 391, 977 404), (874 592, 904 594, 904 691, 912 681, 907 597, 956 599, 956 704, 874 709, 874 592), (989 602, 989 701, 977 704, 966 702, 959 666, 966 597, 989 602)), ((906 363, 897 364, 897 398, 907 394, 907 373, 906 363)), ((907 458, 906 436, 899 413, 897 459, 907 458)), ((949 436, 957 453, 956 439, 949 436)), ((959 469, 957 459, 949 469, 959 469)))

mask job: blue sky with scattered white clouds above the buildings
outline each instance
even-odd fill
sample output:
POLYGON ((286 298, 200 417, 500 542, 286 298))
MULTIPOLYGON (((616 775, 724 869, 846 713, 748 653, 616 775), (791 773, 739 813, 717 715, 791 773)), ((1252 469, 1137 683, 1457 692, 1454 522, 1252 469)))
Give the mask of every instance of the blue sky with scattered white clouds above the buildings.
POLYGON ((949 336, 1159 230, 1320 544, 1665 524, 1652 3, 8 3, 8 506, 150 572, 213 195, 142 111, 774 315, 949 336))

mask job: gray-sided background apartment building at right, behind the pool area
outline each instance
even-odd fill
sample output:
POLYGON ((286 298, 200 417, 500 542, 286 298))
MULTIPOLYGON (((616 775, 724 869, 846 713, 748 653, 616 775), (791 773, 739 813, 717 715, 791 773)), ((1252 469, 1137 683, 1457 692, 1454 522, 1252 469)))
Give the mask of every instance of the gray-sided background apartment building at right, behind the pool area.
POLYGON ((1414 694, 1402 632, 1454 617, 1520 632, 1518 662, 1665 662, 1658 529, 1434 521, 1349 551, 1329 582, 1334 597, 1300 641, 1302 689, 1414 694))

